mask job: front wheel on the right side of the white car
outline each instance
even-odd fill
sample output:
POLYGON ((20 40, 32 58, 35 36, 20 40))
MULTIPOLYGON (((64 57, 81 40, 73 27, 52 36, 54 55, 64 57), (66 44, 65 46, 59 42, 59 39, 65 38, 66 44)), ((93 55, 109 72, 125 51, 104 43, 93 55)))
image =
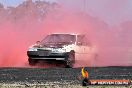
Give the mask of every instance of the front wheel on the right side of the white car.
POLYGON ((65 62, 66 68, 72 68, 74 63, 75 63, 75 52, 71 51, 69 53, 68 59, 65 62))

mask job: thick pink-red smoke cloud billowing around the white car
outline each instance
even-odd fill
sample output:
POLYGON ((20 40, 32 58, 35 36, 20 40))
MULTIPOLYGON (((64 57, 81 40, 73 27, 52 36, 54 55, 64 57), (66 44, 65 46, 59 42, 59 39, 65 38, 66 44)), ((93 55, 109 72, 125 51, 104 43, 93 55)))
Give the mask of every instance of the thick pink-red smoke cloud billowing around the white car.
MULTIPOLYGON (((52 4, 52 9, 49 6, 50 10, 47 10, 46 15, 38 16, 35 13, 38 9, 30 2, 28 14, 21 14, 24 8, 20 5, 18 11, 1 20, 0 67, 29 67, 26 51, 30 45, 42 40, 47 34, 66 32, 86 34, 88 41, 96 46, 98 58, 93 60, 92 66, 131 65, 131 21, 110 27, 86 13, 66 10, 60 6, 56 8, 55 5, 52 4), (34 13, 30 13, 32 9, 34 13)), ((12 12, 15 10, 11 9, 12 12)), ((6 11, 3 10, 1 14, 7 13, 6 11)), ((87 58, 83 59, 87 61, 87 58)), ((89 66, 82 61, 75 67, 82 65, 89 66)))

